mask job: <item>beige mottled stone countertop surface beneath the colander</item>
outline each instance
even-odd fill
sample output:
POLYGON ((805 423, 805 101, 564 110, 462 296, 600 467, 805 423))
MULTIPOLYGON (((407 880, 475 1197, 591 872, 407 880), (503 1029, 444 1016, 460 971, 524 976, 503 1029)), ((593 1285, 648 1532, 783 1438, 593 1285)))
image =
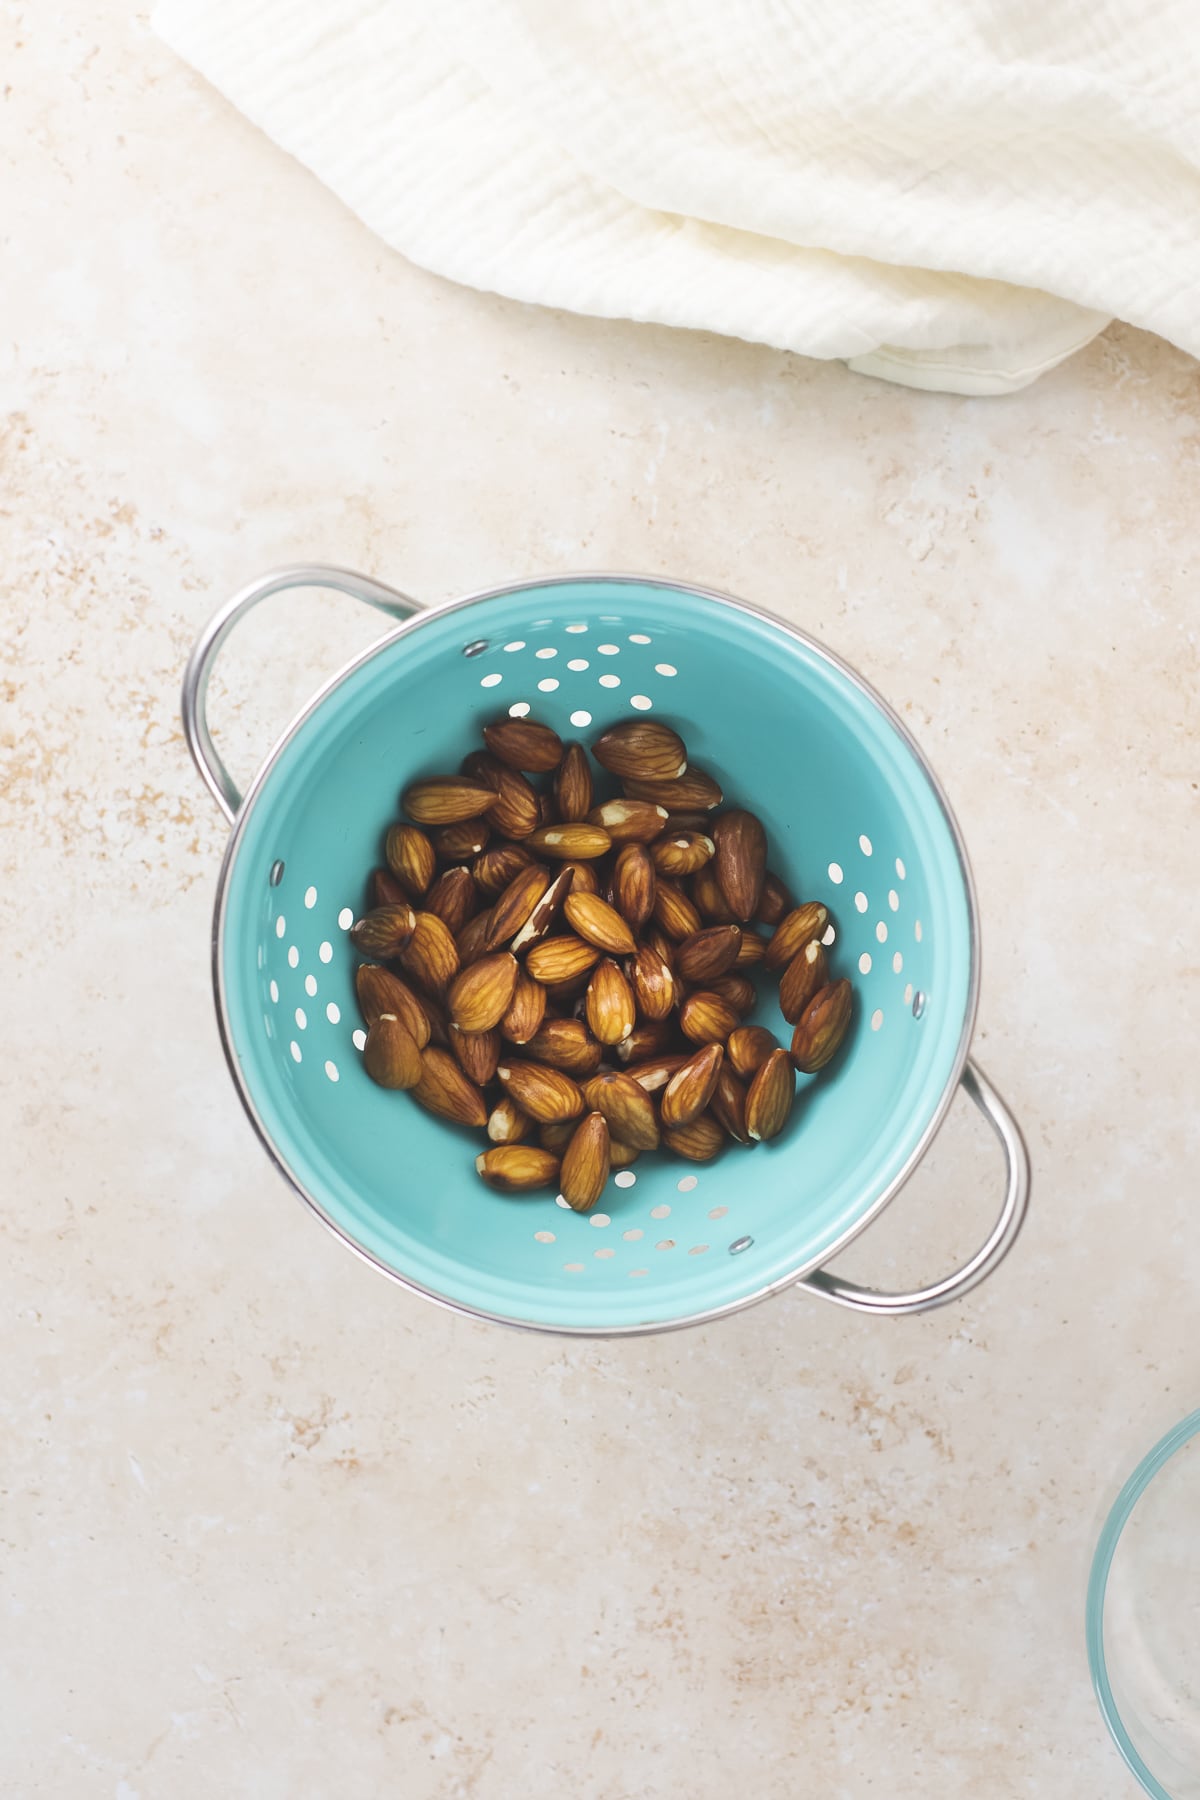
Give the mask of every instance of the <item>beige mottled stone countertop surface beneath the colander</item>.
MULTIPOLYGON (((389 254, 104 0, 9 7, 0 1791, 54 1800, 1124 1800, 1083 1651, 1119 1480, 1196 1404, 1196 365, 1112 328, 1011 400, 560 317, 389 254), (209 612, 666 572, 910 722, 979 880, 977 1051, 1034 1206, 964 1303, 504 1332, 261 1154, 178 724, 209 612)), ((376 634, 263 608, 248 776, 376 634)), ((844 1258, 973 1249, 959 1102, 844 1258)))

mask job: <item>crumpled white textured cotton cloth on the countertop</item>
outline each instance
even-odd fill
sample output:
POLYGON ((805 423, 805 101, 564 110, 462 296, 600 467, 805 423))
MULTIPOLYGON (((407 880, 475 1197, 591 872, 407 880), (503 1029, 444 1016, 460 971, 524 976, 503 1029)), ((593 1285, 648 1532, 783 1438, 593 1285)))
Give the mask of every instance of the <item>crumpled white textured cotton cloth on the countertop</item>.
POLYGON ((412 261, 912 387, 1200 355, 1196 0, 160 0, 412 261))

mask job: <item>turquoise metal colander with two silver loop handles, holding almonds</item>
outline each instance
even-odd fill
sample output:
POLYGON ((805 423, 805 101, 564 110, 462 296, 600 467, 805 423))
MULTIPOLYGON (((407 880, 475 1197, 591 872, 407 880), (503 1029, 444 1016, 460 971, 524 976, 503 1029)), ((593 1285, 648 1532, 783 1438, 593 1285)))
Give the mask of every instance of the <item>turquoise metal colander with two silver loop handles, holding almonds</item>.
MULTIPOLYGON (((396 1282, 488 1319, 617 1336, 714 1319, 795 1282, 864 1312, 921 1312, 1011 1247, 1029 1163, 968 1062, 979 931, 959 828, 896 715, 802 632, 657 578, 531 580, 425 610, 345 569, 291 567, 210 619, 184 679, 184 725, 232 824, 212 927, 230 1073, 295 1192, 396 1282), (297 587, 403 623, 304 707, 243 799, 209 733, 209 675, 237 619, 297 587), (486 1190, 479 1139, 378 1089, 360 1055, 347 929, 399 790, 457 769, 488 720, 525 713, 585 743, 637 713, 676 725, 696 763, 759 814, 788 887, 829 902, 831 967, 856 994, 847 1046, 801 1078, 777 1141, 709 1165, 644 1156, 588 1215, 486 1190), (1004 1150, 986 1244, 914 1292, 829 1274, 912 1174, 959 1082, 1004 1150)), ((756 1019, 783 1030, 763 986, 756 1019)))

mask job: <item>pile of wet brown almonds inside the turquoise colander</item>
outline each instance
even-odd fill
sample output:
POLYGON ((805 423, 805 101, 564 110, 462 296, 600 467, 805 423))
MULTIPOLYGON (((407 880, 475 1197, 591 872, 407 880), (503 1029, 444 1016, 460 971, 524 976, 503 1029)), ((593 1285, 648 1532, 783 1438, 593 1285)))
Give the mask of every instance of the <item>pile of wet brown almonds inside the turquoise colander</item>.
POLYGON ((351 929, 372 958, 356 972, 371 1078, 486 1130, 488 1186, 556 1188, 579 1213, 644 1150, 703 1163, 775 1138, 793 1066, 822 1069, 849 1026, 826 907, 793 904, 761 823, 720 810, 669 725, 596 740, 621 788, 599 803, 585 749, 549 725, 504 718, 484 743, 405 790, 351 929), (761 972, 790 1051, 743 1024, 761 972))

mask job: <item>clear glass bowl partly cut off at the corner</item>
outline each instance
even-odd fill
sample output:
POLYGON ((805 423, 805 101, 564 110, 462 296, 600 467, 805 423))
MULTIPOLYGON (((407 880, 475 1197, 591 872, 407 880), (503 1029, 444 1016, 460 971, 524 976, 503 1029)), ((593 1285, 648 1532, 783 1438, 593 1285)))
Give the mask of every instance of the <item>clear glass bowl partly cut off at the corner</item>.
POLYGON ((1200 1411, 1128 1478, 1096 1546, 1087 1652, 1114 1742, 1155 1800, 1200 1800, 1200 1411))

